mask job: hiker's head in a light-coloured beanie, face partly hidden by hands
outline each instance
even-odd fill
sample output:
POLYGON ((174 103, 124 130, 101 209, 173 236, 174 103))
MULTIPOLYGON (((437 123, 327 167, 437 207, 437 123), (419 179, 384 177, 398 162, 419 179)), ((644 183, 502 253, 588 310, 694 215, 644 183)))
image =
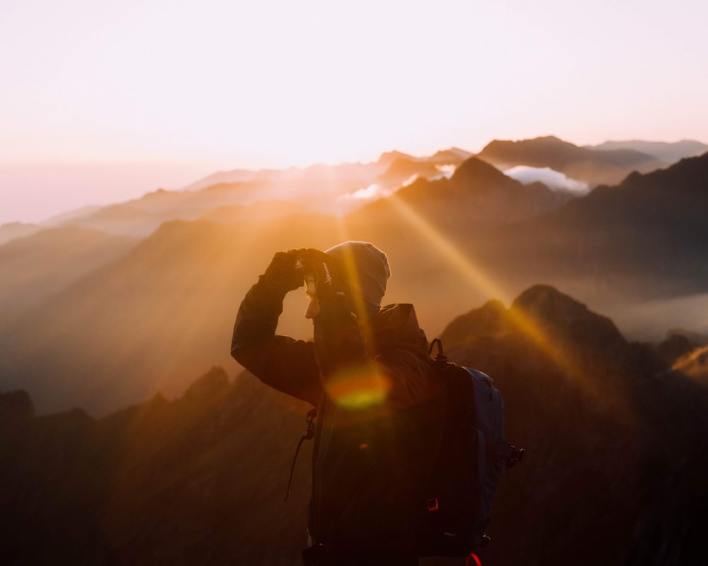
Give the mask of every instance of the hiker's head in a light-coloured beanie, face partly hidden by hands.
MULTIPOLYGON (((391 277, 386 254, 372 243, 353 241, 329 248, 325 253, 341 267, 346 286, 354 294, 354 306, 360 311, 358 316, 366 319, 377 316, 386 293, 387 281, 391 277)), ((305 316, 314 318, 317 313, 319 301, 316 295, 311 294, 305 316)))

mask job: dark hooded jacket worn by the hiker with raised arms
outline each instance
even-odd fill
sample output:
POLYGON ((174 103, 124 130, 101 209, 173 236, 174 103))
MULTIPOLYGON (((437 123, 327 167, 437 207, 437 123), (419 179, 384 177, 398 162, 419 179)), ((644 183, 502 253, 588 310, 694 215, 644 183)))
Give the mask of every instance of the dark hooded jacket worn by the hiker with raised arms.
POLYGON ((275 334, 282 293, 261 279, 241 303, 232 355, 264 383, 318 408, 309 531, 335 548, 410 552, 436 388, 413 306, 362 328, 344 302, 321 303, 314 342, 275 334))

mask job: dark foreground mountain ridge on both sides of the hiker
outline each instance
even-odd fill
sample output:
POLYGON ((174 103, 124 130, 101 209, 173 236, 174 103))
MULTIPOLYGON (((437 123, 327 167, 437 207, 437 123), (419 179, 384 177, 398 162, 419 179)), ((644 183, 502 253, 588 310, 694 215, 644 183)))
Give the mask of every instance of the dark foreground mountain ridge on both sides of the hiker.
MULTIPOLYGON (((547 285, 458 317, 442 340, 493 377, 506 435, 527 449, 501 478, 485 564, 702 563, 708 388, 547 285)), ((25 393, 0 394, 0 422, 12 423, 0 427, 0 556, 300 564, 312 443, 282 499, 306 410, 218 368, 176 400, 101 419, 36 417, 25 393)))

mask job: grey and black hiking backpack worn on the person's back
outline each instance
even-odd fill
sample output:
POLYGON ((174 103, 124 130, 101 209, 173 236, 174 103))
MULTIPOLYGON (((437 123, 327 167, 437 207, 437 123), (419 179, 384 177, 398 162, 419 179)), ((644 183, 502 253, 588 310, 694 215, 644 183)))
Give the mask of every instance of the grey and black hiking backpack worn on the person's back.
POLYGON ((524 449, 504 438, 504 405, 491 377, 450 362, 442 342, 428 355, 442 388, 442 438, 421 504, 421 556, 471 555, 489 543, 484 533, 503 469, 522 461, 524 449))

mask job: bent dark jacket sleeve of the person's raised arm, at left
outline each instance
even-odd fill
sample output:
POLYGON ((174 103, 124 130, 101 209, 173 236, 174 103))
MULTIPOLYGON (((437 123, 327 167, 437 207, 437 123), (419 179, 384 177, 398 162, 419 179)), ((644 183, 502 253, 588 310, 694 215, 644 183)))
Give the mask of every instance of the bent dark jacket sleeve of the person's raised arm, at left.
POLYGON ((251 287, 236 315, 231 354, 263 383, 316 406, 322 388, 314 344, 275 334, 284 298, 263 279, 251 287))

